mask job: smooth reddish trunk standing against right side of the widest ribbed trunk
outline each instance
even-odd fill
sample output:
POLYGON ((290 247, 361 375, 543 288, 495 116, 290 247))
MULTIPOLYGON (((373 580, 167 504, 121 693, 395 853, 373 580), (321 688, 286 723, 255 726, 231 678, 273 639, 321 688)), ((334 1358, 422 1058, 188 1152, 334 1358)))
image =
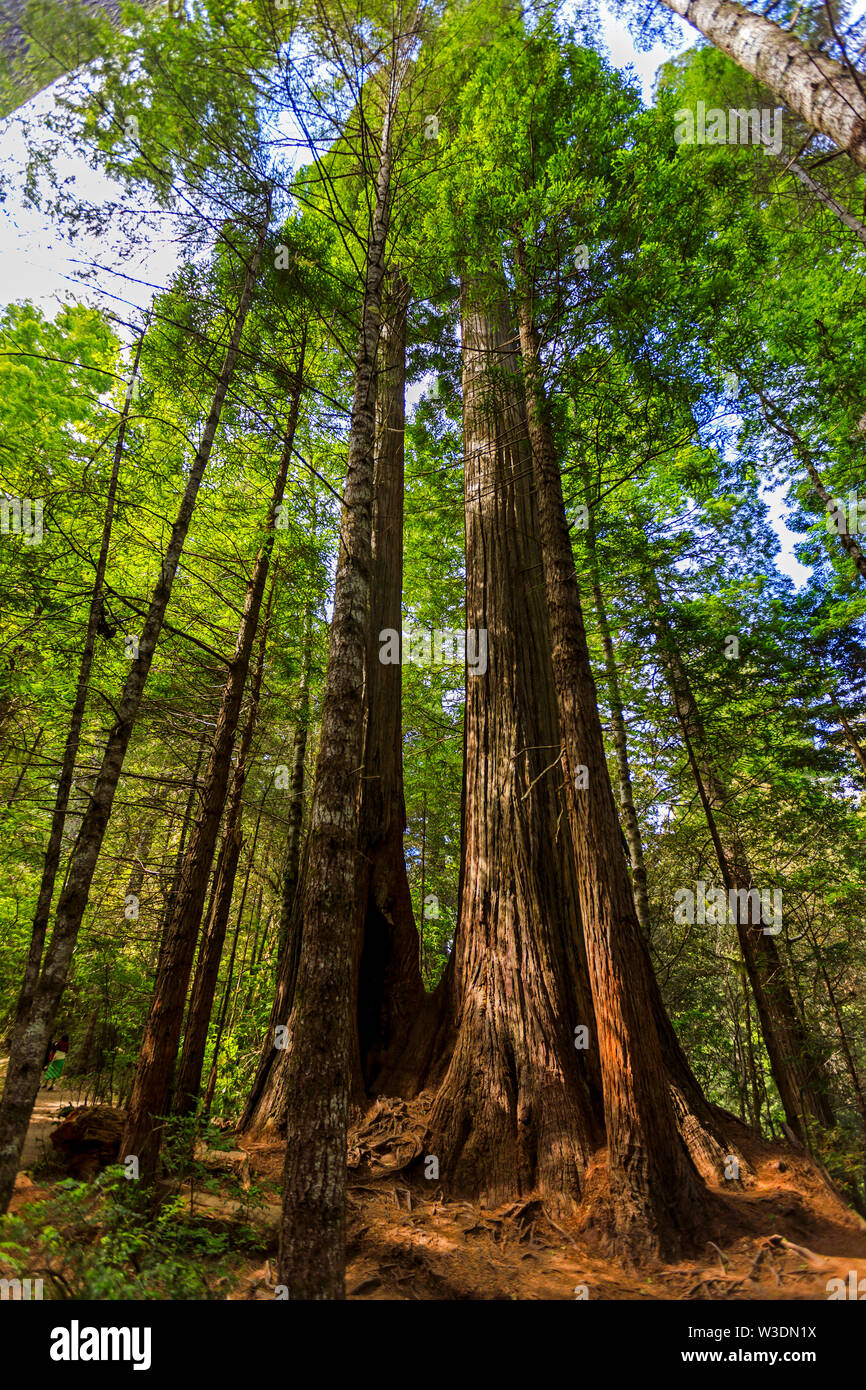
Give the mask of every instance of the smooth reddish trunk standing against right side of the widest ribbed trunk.
POLYGON ((646 945, 620 845, 595 681, 542 378, 525 253, 520 345, 538 495, 566 798, 595 1004, 605 1129, 619 1251, 677 1258, 705 1230, 705 1193, 685 1148, 655 1027, 646 945), (585 769, 585 774, 584 774, 585 769))

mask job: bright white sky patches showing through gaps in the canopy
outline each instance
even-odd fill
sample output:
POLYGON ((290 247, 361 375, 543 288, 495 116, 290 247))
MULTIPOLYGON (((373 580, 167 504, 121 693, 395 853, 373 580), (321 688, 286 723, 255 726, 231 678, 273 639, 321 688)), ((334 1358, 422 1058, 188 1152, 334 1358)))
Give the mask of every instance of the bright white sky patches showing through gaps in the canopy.
MULTIPOLYGON (((623 19, 609 4, 601 6, 599 47, 606 50, 616 68, 631 70, 648 104, 652 100, 657 68, 673 54, 691 47, 698 38, 696 31, 685 21, 676 18, 674 22, 678 39, 656 44, 649 53, 638 53, 623 19)), ((49 88, 26 106, 26 115, 36 128, 53 107, 53 93, 54 89, 49 88)), ((89 286, 82 289, 76 281, 82 265, 97 261, 107 267, 100 274, 100 285, 108 291, 108 296, 101 299, 103 307, 124 320, 133 318, 135 306, 145 309, 154 291, 168 282, 177 267, 171 242, 154 235, 146 252, 122 261, 122 278, 120 274, 113 275, 111 268, 120 271, 121 260, 117 247, 111 245, 108 229, 103 236, 81 236, 75 246, 71 246, 63 235, 63 227, 44 213, 25 204, 21 196, 22 181, 15 182, 17 171, 24 168, 24 157, 25 138, 19 122, 14 118, 0 122, 0 167, 8 179, 6 202, 0 207, 0 304, 32 300, 44 313, 53 314, 63 300, 70 297, 97 302, 96 291, 89 286), (118 297, 111 299, 111 295, 118 297)), ((110 182, 81 158, 68 157, 61 172, 89 202, 101 202, 111 196, 110 182)), ((125 336, 131 339, 132 332, 125 336)), ((423 384, 411 392, 410 404, 414 404, 421 389, 423 384)), ((796 537, 784 524, 784 486, 765 491, 763 496, 781 545, 778 567, 799 588, 809 571, 794 557, 796 537)))

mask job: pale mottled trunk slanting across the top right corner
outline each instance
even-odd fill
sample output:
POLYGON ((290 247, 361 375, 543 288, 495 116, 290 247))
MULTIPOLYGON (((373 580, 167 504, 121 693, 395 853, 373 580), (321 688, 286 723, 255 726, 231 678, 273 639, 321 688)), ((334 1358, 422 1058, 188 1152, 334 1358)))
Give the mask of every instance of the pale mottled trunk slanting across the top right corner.
POLYGON ((866 100, 841 63, 737 0, 663 3, 866 168, 866 100))

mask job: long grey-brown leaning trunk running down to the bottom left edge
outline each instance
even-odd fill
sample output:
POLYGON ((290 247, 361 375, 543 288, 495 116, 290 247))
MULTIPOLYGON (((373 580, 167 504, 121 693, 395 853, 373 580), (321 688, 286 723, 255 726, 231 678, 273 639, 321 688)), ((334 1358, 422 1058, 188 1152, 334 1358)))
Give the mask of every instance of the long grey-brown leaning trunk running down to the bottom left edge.
POLYGON ((247 265, 240 302, 229 345, 225 353, 210 413, 202 434, 202 443, 189 470, 183 498, 177 521, 171 531, 168 549, 163 559, 160 577, 153 591, 145 626, 139 639, 139 655, 132 662, 129 676, 117 706, 117 721, 103 755, 96 787, 82 817, 78 838, 72 849, 70 872, 57 902, 54 931, 49 942, 39 981, 33 994, 31 1015, 22 1031, 15 1054, 10 1056, 3 1101, 0 1101, 0 1212, 6 1211, 15 1182, 21 1150, 26 1136, 33 1102, 39 1091, 42 1059, 60 997, 67 983, 72 952, 78 940, 81 922, 88 906, 90 884, 96 862, 108 826, 114 794, 120 781, 124 758, 142 702, 142 694, 153 662, 153 653, 163 627, 171 588, 178 570, 183 542, 192 521, 199 488, 211 456, 214 438, 222 413, 222 403, 235 373, 240 334, 253 297, 259 261, 264 247, 267 227, 247 265))

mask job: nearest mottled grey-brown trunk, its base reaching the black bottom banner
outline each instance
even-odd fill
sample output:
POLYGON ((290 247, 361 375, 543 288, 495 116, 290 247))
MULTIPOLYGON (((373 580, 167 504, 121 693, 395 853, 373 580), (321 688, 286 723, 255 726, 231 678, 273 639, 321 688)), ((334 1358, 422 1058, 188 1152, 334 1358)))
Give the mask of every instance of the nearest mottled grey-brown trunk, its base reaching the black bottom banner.
POLYGON ((391 121, 400 85, 402 79, 392 74, 367 243, 334 617, 299 917, 303 954, 285 1068, 292 1106, 278 1268, 291 1298, 345 1297, 357 791, 370 598, 375 375, 391 199, 391 121))

